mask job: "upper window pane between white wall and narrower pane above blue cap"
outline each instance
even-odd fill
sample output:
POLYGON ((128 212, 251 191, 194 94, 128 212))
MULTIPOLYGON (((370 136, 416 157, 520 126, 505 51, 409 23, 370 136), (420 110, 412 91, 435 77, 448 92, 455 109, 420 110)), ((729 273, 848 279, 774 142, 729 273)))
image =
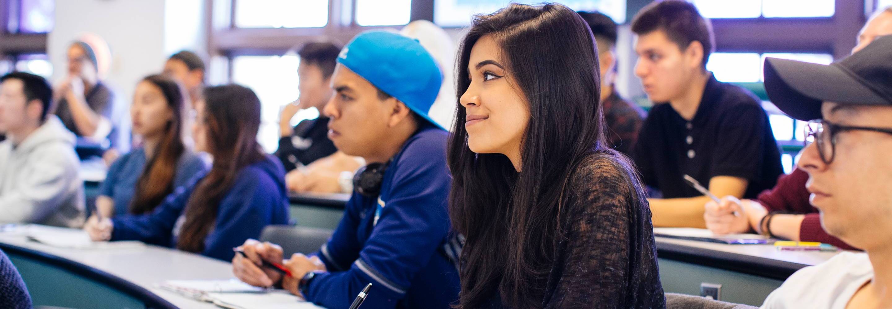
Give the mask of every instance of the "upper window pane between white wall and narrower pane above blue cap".
POLYGON ((328 24, 328 0, 234 0, 237 28, 318 28, 328 24))

